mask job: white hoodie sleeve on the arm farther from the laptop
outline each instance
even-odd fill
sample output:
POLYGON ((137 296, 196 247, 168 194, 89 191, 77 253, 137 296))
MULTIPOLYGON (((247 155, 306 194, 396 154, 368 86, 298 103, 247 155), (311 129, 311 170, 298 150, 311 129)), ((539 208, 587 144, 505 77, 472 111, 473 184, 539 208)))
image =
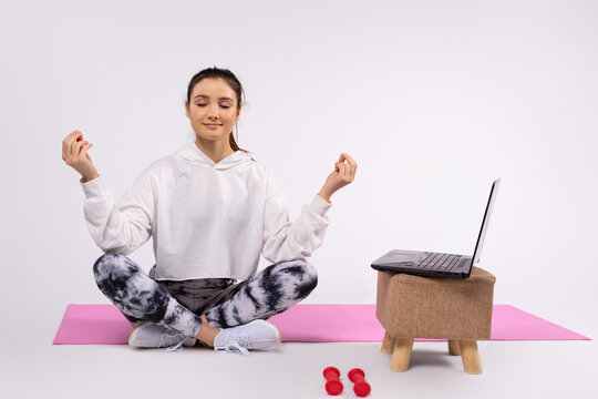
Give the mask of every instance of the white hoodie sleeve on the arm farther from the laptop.
POLYGON ((90 234, 104 252, 128 255, 152 236, 153 195, 147 170, 114 203, 112 191, 104 185, 102 176, 83 183, 85 193, 83 214, 90 234))

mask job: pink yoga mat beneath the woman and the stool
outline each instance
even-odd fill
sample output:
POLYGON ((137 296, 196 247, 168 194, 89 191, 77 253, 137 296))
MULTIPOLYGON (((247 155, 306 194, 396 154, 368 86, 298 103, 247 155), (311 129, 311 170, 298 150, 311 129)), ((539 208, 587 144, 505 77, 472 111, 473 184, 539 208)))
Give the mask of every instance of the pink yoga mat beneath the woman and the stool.
MULTIPOLYGON (((268 319, 286 342, 381 342, 375 305, 296 305, 268 319)), ((53 344, 126 344, 133 330, 114 305, 66 307, 53 344)), ((511 305, 494 305, 493 340, 590 339, 511 305)), ((434 339, 416 339, 435 341, 434 339)))

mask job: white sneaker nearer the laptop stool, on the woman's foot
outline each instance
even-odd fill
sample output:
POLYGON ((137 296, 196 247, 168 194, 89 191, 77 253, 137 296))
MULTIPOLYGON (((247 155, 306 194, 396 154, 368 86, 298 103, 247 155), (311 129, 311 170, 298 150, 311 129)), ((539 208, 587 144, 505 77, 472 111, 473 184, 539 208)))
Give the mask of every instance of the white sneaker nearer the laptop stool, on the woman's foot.
POLYGON ((275 349, 281 341, 278 328, 269 321, 257 319, 246 325, 223 328, 214 339, 214 350, 239 351, 243 355, 249 355, 248 349, 275 349))

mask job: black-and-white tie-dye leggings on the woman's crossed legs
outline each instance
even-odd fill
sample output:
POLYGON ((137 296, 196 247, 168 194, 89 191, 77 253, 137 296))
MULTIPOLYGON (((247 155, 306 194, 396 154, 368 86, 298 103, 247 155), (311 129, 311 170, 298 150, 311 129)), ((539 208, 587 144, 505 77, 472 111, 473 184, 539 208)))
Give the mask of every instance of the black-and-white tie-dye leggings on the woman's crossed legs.
POLYGON ((301 301, 318 285, 316 268, 305 259, 281 262, 239 283, 240 289, 216 307, 194 313, 124 255, 102 255, 93 275, 100 290, 131 323, 150 320, 189 337, 199 332, 202 314, 218 328, 266 319, 301 301))

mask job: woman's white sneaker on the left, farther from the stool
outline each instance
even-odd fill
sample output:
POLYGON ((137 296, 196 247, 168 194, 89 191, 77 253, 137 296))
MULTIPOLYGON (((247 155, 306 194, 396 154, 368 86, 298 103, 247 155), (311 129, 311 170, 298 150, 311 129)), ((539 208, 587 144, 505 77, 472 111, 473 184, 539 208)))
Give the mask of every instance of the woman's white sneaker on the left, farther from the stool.
POLYGON ((128 336, 128 345, 137 348, 166 348, 182 350, 182 346, 194 346, 195 337, 187 337, 174 328, 144 321, 128 336))

